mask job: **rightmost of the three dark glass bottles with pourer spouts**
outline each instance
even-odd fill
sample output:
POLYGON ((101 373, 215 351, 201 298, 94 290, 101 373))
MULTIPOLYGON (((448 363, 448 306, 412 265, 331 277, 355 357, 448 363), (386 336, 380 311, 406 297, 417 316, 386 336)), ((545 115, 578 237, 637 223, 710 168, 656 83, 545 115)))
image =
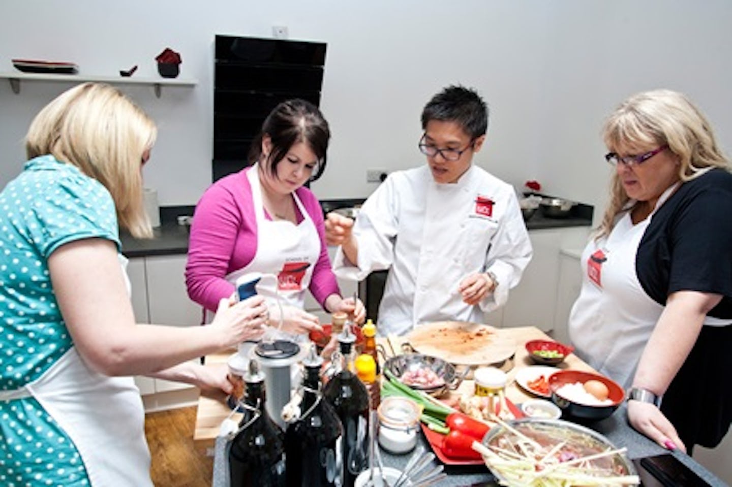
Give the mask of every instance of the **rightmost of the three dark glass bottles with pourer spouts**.
POLYGON ((343 486, 351 487, 366 468, 369 396, 365 385, 354 374, 351 350, 356 337, 345 327, 338 341, 340 351, 333 354, 336 373, 323 394, 343 424, 343 486))

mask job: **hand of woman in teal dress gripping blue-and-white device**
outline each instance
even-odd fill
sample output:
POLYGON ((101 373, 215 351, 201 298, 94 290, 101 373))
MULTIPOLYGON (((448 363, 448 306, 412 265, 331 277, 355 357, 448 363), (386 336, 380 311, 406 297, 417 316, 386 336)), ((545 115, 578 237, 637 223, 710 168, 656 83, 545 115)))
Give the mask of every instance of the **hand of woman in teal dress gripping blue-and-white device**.
POLYGON ((242 341, 260 339, 267 317, 267 306, 261 296, 239 302, 223 298, 211 326, 223 334, 222 348, 234 347, 242 341))

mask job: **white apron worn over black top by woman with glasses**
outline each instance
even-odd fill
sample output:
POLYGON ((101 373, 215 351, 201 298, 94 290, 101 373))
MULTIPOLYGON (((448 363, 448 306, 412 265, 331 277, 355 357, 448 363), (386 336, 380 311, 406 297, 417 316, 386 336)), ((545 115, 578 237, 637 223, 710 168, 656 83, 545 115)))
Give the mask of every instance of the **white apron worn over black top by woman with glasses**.
POLYGON ((627 211, 607 238, 591 240, 582 253, 584 279, 569 315, 569 338, 580 358, 624 389, 632 385, 635 367, 664 309, 638 281, 638 245, 674 189, 676 185, 666 189, 642 222, 632 224, 627 211))

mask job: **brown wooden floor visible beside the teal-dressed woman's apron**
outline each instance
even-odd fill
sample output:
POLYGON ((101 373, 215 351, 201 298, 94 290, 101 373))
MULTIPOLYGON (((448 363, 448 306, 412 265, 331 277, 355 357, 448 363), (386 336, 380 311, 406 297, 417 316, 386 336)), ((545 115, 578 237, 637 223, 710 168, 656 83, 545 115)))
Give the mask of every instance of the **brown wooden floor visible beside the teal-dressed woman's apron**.
POLYGON ((151 412, 145 436, 155 487, 210 487, 214 459, 193 448, 195 407, 151 412))

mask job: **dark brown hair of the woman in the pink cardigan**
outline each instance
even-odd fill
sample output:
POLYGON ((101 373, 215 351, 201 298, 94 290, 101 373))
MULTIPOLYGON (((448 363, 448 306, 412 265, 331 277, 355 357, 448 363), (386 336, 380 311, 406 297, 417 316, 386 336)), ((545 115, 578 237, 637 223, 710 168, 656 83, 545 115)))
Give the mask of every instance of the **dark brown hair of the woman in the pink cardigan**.
POLYGON ((281 102, 269 113, 262 124, 261 132, 253 140, 249 151, 249 162, 257 162, 262 155, 262 138, 269 135, 272 151, 269 152, 269 171, 277 177, 277 165, 292 146, 303 142, 310 146, 318 158, 318 169, 310 178, 315 181, 323 175, 327 159, 330 129, 321 110, 304 99, 289 99, 281 102))

